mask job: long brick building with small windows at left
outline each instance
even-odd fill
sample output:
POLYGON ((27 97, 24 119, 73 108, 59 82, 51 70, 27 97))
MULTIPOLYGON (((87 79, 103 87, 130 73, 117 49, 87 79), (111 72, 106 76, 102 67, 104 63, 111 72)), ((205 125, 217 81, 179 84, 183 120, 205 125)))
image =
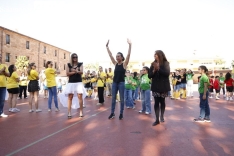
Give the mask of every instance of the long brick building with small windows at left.
POLYGON ((20 34, 0 26, 0 53, 2 62, 8 66, 14 64, 18 56, 27 56, 29 62, 35 62, 37 70, 45 69, 47 61, 53 61, 65 76, 65 66, 69 62, 70 52, 20 34))

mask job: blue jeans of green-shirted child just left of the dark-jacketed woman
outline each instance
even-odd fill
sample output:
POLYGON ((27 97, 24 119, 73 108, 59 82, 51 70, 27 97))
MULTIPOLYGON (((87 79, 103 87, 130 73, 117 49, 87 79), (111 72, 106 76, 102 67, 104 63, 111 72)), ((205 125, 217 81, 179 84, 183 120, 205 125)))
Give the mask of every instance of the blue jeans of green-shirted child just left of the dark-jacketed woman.
POLYGON ((142 112, 151 113, 150 89, 141 90, 142 112))

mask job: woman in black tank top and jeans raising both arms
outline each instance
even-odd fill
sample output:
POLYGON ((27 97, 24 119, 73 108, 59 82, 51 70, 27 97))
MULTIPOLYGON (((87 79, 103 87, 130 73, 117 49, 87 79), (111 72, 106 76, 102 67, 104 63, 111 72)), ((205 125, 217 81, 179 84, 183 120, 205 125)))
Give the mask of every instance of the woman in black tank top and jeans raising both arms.
POLYGON ((123 119, 123 110, 124 110, 124 88, 125 88, 125 70, 127 68, 129 59, 130 59, 130 54, 131 54, 131 48, 132 48, 132 42, 128 39, 127 40, 129 44, 128 48, 128 55, 126 58, 126 61, 124 62, 124 56, 121 52, 118 52, 116 55, 116 60, 112 56, 112 53, 108 47, 109 45, 109 40, 106 44, 107 52, 110 56, 110 59, 112 63, 115 65, 115 70, 114 70, 114 78, 113 78, 113 83, 112 83, 112 105, 111 105, 111 114, 108 117, 109 119, 113 119, 115 117, 115 105, 116 105, 116 94, 119 91, 120 94, 120 115, 119 119, 123 119))

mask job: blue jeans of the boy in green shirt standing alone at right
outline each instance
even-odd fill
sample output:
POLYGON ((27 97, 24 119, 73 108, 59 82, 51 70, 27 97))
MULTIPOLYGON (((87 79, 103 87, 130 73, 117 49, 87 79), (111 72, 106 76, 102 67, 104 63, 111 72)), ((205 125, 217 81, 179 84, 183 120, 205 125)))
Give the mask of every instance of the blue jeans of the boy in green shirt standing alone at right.
POLYGON ((206 99, 203 100, 203 93, 200 93, 200 118, 208 118, 210 119, 210 107, 208 102, 208 92, 206 92, 206 99))

